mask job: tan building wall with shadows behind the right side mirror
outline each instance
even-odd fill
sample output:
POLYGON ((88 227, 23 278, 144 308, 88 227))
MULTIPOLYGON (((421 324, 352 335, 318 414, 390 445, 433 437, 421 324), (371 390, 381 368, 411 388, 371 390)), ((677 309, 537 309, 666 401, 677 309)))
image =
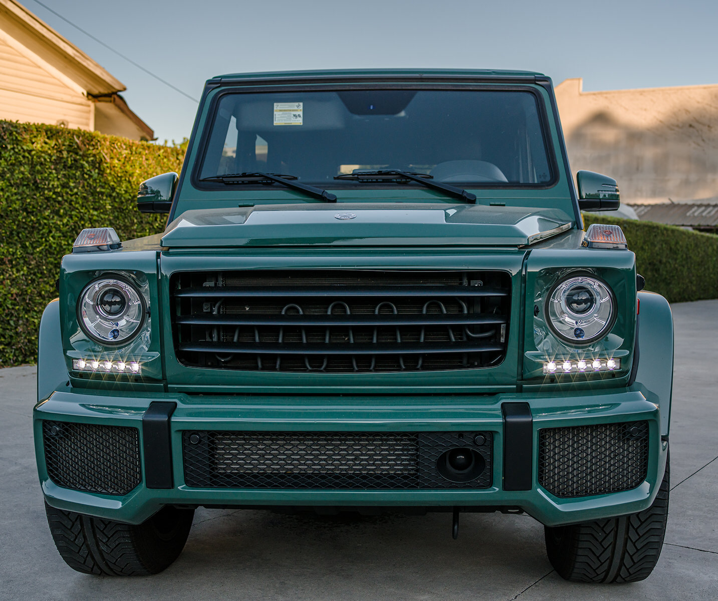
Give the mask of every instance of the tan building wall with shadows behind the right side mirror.
POLYGON ((625 202, 718 202, 718 85, 582 91, 556 86, 572 171, 614 177, 625 202))

